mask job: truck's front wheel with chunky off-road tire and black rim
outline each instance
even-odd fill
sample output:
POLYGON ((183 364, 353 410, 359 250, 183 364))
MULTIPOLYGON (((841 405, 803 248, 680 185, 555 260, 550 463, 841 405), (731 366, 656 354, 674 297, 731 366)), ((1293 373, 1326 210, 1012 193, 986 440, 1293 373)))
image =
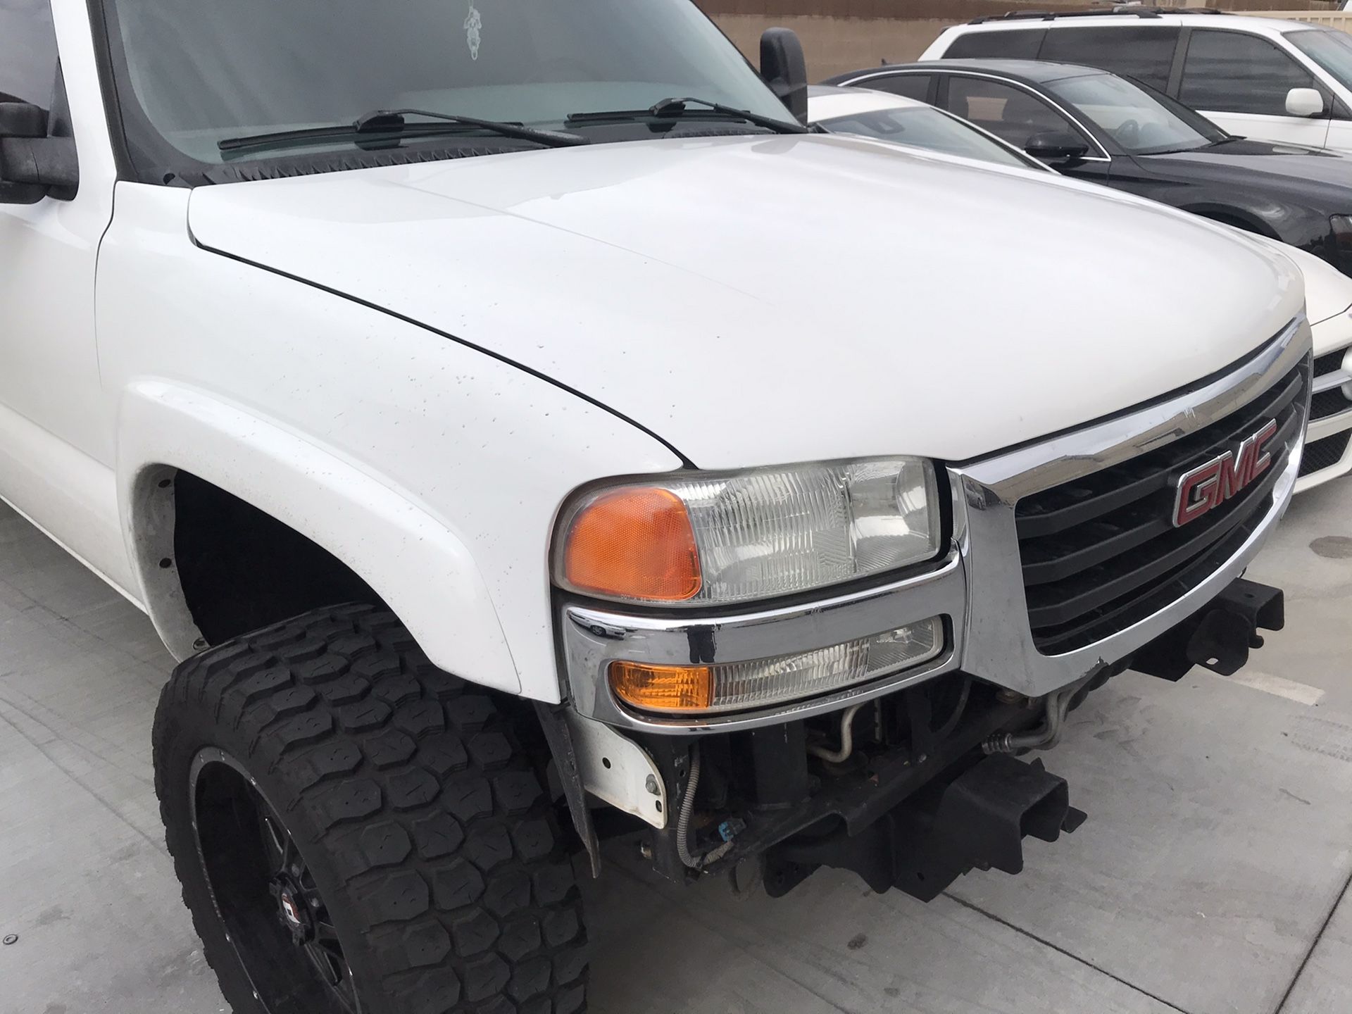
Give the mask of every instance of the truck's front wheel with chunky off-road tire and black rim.
POLYGON ((389 612, 320 610, 165 685, 155 791, 237 1014, 573 1014, 585 932, 538 758, 389 612))

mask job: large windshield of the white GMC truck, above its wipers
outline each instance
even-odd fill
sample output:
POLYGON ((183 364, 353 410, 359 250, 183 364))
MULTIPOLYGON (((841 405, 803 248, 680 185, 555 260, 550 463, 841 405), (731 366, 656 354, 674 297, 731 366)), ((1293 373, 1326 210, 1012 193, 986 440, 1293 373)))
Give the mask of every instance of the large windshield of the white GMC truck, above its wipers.
MULTIPOLYGON (((569 114, 698 96, 792 120, 690 0, 214 0, 187 16, 164 0, 104 4, 128 147, 162 165, 276 157, 223 154, 218 143, 403 107, 557 130, 569 114)), ((606 141, 653 137, 641 123, 594 130, 606 141)), ((470 134, 385 147, 416 157, 429 143, 485 145, 483 131, 470 134)), ((331 160, 356 145, 337 137, 304 150, 331 160)))

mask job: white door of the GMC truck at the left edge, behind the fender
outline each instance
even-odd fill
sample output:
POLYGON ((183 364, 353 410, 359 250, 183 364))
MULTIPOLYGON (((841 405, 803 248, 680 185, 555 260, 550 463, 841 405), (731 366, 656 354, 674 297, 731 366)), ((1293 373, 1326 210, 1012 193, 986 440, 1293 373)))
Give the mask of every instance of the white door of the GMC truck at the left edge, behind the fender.
POLYGON ((0 496, 126 588, 93 306, 115 172, 89 43, 84 4, 0 0, 0 101, 49 111, 80 157, 73 197, 0 187, 0 496))

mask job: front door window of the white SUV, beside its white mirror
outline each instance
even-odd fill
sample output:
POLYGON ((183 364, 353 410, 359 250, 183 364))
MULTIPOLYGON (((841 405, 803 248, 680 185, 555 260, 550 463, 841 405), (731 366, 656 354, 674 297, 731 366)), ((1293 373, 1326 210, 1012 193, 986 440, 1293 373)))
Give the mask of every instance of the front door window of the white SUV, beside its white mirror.
POLYGON ((1317 87, 1307 70, 1264 38, 1197 28, 1183 61, 1179 99, 1209 112, 1286 116, 1287 92, 1317 87))

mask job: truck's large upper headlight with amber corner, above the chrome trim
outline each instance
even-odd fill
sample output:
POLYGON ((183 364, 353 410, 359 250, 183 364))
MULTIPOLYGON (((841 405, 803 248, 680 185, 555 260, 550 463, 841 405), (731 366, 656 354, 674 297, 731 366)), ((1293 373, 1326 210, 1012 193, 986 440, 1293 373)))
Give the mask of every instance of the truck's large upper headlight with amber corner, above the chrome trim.
POLYGON ((934 466, 921 458, 683 472, 577 498, 554 575, 603 599, 713 606, 886 573, 938 542, 934 466))

